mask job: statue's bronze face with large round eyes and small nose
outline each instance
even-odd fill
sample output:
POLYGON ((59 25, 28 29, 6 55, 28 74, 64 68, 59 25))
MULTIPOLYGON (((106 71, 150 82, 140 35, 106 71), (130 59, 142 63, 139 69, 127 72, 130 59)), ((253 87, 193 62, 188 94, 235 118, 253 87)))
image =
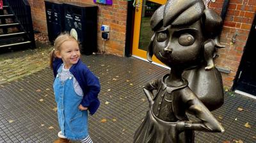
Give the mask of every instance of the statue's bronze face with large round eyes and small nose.
POLYGON ((188 68, 199 59, 202 41, 199 20, 190 26, 161 27, 154 38, 153 52, 167 66, 188 68))

